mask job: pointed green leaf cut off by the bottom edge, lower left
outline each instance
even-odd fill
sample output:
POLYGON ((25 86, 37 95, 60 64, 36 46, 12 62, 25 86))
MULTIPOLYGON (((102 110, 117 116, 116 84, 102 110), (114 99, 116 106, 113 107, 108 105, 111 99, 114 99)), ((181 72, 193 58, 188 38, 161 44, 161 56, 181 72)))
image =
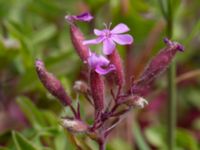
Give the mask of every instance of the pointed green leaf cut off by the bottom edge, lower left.
POLYGON ((14 144, 17 150, 39 150, 39 148, 33 145, 20 133, 13 131, 12 139, 14 141, 14 144))

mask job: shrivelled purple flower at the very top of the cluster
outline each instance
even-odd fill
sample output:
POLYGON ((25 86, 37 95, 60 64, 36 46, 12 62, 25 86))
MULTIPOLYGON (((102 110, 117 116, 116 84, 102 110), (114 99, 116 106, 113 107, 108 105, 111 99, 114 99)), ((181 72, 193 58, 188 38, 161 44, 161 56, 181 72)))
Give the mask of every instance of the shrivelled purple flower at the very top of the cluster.
POLYGON ((90 21, 93 19, 93 16, 88 13, 88 12, 85 12, 85 13, 82 13, 80 15, 67 15, 65 16, 65 19, 68 21, 68 22, 73 22, 73 21, 90 21))

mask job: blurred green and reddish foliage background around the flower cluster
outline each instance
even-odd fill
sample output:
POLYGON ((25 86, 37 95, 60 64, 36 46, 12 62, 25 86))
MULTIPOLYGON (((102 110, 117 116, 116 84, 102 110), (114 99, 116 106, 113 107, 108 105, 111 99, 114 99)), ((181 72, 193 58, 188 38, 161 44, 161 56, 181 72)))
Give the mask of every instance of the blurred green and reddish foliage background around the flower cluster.
MULTIPOLYGON (((83 135, 74 139, 59 125, 59 117, 69 110, 43 88, 34 61, 44 60, 76 99, 72 86, 80 78, 83 65, 71 44, 64 17, 89 11, 95 19, 78 24, 87 39, 94 27, 104 28, 103 23, 129 26, 135 39, 129 53, 133 75, 138 76, 144 64, 164 46, 166 22, 159 1, 0 0, 0 150, 73 150, 76 144, 86 150, 96 149, 93 141, 83 135)), ((199 7, 199 0, 173 1, 173 39, 185 46, 185 52, 176 58, 177 150, 200 149, 199 7)), ((118 47, 124 60, 126 48, 118 47)), ((127 116, 124 125, 111 135, 107 149, 166 149, 166 87, 163 74, 146 98, 149 105, 127 116)), ((87 108, 84 100, 81 105, 87 108)), ((85 108, 82 113, 90 120, 87 116, 91 112, 85 112, 85 108)))

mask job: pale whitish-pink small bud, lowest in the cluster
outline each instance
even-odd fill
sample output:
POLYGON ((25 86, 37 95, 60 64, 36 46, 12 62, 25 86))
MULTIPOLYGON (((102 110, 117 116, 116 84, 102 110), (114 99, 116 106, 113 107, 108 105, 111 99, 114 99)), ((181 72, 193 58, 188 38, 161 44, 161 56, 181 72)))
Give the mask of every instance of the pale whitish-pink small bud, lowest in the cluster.
POLYGON ((83 133, 88 131, 88 125, 77 119, 61 119, 61 125, 74 133, 83 133))

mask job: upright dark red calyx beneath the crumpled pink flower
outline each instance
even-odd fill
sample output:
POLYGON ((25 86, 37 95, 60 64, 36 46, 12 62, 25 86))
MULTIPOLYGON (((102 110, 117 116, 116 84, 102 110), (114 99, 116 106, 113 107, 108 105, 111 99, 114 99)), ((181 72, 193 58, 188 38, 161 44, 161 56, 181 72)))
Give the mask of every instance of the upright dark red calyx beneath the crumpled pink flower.
POLYGON ((93 69, 90 71, 90 88, 96 114, 104 109, 104 81, 93 69))

